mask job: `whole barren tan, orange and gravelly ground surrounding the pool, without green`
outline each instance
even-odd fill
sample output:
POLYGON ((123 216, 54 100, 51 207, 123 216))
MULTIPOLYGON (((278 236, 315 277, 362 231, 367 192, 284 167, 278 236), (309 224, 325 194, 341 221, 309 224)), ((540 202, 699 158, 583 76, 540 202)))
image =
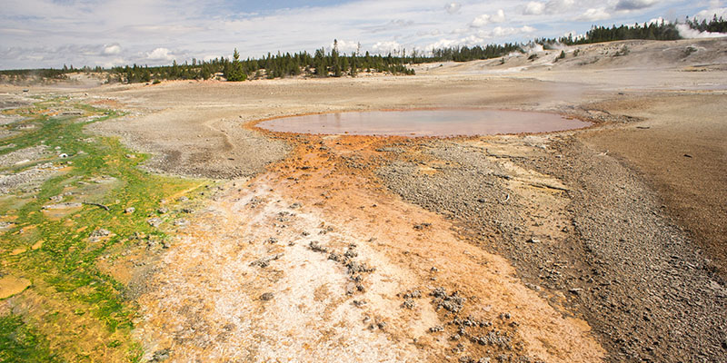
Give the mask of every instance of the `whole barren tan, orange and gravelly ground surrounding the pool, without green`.
POLYGON ((152 152, 155 171, 224 180, 134 282, 146 359, 727 361, 727 41, 627 44, 408 77, 33 92, 128 111, 93 132, 152 152), (254 126, 457 106, 595 125, 452 139, 254 126))

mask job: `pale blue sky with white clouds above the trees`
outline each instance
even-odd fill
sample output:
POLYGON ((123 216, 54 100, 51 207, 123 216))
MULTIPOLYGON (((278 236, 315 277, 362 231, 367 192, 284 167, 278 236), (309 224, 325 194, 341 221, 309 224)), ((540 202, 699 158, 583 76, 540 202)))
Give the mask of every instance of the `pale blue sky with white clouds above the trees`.
POLYGON ((3 0, 0 69, 171 64, 268 52, 387 54, 584 34, 660 17, 727 18, 718 0, 3 0))

